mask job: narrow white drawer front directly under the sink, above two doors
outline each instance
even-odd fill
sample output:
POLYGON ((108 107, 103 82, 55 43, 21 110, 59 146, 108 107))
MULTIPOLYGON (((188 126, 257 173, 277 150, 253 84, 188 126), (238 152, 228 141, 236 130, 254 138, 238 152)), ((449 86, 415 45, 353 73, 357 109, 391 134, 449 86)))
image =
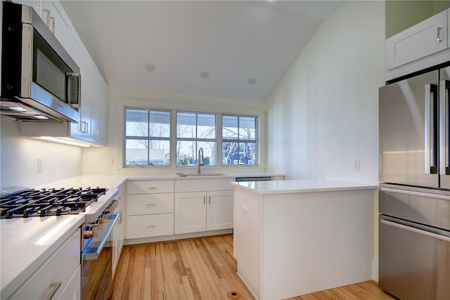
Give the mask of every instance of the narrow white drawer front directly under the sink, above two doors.
POLYGON ((208 190, 233 190, 231 183, 234 178, 203 178, 181 179, 175 181, 175 191, 178 192, 207 192, 208 190))

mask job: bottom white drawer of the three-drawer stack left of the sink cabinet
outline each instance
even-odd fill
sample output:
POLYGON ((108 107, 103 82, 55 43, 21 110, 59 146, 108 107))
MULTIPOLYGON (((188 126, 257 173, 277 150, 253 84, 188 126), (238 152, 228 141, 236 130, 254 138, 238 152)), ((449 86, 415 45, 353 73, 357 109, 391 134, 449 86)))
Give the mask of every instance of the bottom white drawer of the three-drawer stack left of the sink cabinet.
POLYGON ((127 239, 174 234, 174 214, 127 217, 127 239))

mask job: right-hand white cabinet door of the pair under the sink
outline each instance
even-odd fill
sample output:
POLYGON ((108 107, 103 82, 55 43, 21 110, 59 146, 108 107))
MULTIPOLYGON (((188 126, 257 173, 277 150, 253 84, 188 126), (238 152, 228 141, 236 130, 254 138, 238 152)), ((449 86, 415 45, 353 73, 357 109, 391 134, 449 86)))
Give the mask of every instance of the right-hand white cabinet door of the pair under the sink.
POLYGON ((207 192, 206 228, 233 228, 233 190, 207 192))

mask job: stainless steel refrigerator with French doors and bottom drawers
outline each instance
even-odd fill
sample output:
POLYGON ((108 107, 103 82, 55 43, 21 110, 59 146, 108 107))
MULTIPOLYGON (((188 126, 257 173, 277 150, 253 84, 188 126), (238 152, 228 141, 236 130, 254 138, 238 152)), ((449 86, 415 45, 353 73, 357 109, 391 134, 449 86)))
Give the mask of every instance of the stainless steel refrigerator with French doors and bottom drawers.
POLYGON ((450 299, 449 79, 445 66, 379 91, 379 284, 400 299, 450 299))

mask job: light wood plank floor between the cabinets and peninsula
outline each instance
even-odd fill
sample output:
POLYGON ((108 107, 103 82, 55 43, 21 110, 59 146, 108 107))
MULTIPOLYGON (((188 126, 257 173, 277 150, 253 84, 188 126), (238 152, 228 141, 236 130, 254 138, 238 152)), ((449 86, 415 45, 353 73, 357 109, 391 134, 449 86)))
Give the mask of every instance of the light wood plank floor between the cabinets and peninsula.
MULTIPOLYGON (((233 235, 125 246, 111 299, 254 299, 236 274, 233 235), (236 293, 237 295, 234 296, 236 293)), ((290 298, 394 299, 373 281, 290 298)))

